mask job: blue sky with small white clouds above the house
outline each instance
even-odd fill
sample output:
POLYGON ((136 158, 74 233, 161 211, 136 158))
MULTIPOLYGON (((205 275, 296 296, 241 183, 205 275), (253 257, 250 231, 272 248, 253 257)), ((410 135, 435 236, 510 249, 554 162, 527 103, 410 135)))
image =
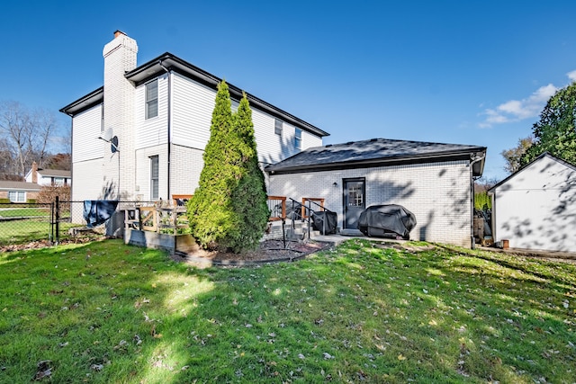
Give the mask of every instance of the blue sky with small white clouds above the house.
POLYGON ((484 175, 502 179, 500 152, 576 79, 575 13, 564 0, 21 0, 0 12, 0 101, 58 111, 93 91, 121 30, 139 64, 169 51, 328 131, 325 144, 481 145, 484 175))

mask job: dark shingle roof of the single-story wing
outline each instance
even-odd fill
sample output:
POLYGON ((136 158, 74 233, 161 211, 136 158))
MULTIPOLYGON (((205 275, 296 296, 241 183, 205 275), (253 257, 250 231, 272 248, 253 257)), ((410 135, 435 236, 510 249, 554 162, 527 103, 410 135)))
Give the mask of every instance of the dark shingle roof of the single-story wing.
MULTIPOLYGON (((311 147, 280 163, 266 166, 266 172, 290 174, 378 165, 470 160, 473 156, 484 156, 485 153, 486 147, 479 146, 372 138, 311 147)), ((481 175, 483 166, 483 160, 475 164, 474 175, 481 175)))

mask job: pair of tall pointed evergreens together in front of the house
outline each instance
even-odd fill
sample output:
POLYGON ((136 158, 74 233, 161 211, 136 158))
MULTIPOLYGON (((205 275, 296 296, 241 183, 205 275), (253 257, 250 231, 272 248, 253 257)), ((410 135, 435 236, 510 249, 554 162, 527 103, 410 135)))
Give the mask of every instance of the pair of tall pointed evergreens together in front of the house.
POLYGON ((246 94, 232 115, 224 81, 216 94, 210 131, 199 186, 188 202, 192 236, 209 249, 238 253, 256 248, 270 213, 266 184, 246 94))

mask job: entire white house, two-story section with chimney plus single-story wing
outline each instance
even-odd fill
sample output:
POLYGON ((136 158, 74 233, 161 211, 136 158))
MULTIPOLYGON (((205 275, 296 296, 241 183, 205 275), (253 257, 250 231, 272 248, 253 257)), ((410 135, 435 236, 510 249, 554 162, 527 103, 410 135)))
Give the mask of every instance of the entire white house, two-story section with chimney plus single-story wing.
MULTIPOLYGON (((60 110, 73 121, 72 200, 170 200, 198 185, 221 79, 170 53, 137 66, 137 52, 116 31, 103 49, 103 87, 60 110)), ((238 107, 242 91, 229 91, 238 107)), ((412 238, 471 246, 486 147, 381 138, 323 146, 328 132, 247 98, 269 195, 324 199, 340 228, 355 228, 371 204, 402 204, 418 219, 412 238)))

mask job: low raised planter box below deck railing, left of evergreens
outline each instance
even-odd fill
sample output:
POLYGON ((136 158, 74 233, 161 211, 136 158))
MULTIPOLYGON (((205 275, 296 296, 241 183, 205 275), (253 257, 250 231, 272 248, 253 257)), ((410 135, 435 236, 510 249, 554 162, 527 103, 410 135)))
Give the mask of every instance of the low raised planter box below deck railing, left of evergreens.
POLYGON ((191 235, 166 235, 130 228, 124 229, 124 243, 133 246, 165 249, 170 254, 175 254, 175 252, 186 254, 199 249, 191 235))

